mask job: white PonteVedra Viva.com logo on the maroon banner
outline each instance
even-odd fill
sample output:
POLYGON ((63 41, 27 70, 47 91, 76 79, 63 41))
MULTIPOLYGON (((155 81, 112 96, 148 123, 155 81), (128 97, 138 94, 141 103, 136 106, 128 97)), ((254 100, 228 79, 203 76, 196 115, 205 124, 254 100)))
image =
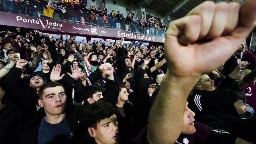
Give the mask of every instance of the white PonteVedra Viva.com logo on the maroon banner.
POLYGON ((22 18, 21 16, 16 16, 16 20, 17 22, 22 21, 25 23, 39 24, 43 26, 43 28, 49 28, 54 30, 61 30, 61 27, 63 26, 63 24, 58 23, 57 21, 49 22, 48 20, 41 20, 39 18, 26 19, 26 18, 22 18))

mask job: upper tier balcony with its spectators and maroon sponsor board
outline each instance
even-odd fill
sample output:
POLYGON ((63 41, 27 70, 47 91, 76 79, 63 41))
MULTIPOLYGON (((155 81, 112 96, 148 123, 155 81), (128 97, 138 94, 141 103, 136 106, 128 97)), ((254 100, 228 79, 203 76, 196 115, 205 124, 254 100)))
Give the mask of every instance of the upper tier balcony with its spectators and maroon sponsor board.
POLYGON ((88 14, 85 9, 77 10, 55 6, 52 2, 13 2, 13 6, 2 6, 0 25, 88 34, 98 37, 124 37, 126 39, 165 42, 166 30, 118 20, 108 16, 88 14))

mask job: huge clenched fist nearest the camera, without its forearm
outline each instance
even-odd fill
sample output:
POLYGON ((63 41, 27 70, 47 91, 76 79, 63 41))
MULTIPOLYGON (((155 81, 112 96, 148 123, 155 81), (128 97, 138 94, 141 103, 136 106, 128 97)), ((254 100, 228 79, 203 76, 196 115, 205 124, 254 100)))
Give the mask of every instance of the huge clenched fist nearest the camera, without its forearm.
POLYGON ((255 26, 256 3, 203 2, 167 30, 168 73, 200 77, 224 63, 255 26))

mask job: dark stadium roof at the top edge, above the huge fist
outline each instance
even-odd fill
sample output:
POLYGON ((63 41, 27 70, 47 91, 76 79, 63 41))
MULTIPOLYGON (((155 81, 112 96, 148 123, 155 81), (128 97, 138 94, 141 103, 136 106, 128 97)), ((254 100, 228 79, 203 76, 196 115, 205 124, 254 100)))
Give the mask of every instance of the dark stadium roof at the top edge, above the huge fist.
MULTIPOLYGON (((243 4, 246 0, 211 0, 215 3, 218 2, 238 2, 239 4, 243 4)), ((195 8, 197 5, 205 2, 205 0, 130 0, 130 2, 139 4, 141 7, 149 8, 160 12, 165 16, 168 14, 173 18, 181 18, 185 16, 190 10, 195 8), (181 4, 181 7, 177 8, 177 11, 173 12, 173 9, 177 7, 177 4, 184 2, 185 4, 181 4)))

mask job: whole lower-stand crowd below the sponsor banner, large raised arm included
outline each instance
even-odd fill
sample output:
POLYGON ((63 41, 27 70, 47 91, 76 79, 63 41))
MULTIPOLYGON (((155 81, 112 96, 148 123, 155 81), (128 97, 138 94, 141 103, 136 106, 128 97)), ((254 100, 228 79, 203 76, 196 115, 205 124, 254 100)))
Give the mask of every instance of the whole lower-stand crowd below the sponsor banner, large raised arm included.
MULTIPOLYGON (((248 1, 227 34, 199 28, 203 38, 208 33, 213 39, 205 43, 200 32, 194 39, 195 31, 179 26, 210 21, 221 27, 218 19, 175 21, 165 48, 124 45, 124 38, 86 43, 65 35, 63 41, 61 35, 44 37, 21 28, 5 33, 0 37, 1 143, 256 143, 256 56, 244 43, 236 48, 255 26, 255 16, 243 18, 256 6, 248 1), (219 42, 229 45, 216 47, 219 42)), ((204 2, 192 12, 218 13, 225 6, 230 14, 239 10, 237 4, 204 2)))

